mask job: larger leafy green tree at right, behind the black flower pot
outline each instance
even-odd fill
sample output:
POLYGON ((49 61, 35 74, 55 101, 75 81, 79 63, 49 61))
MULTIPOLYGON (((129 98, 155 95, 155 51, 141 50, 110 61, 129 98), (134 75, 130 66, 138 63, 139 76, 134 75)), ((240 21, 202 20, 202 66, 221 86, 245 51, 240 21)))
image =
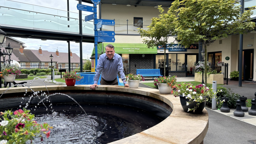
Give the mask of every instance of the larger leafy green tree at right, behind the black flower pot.
MULTIPOLYGON (((179 3, 179 0, 175 0, 179 3)), ((231 34, 243 34, 255 27, 250 21, 251 10, 240 14, 240 6, 234 0, 183 0, 182 7, 176 10, 178 20, 176 31, 179 43, 188 46, 191 43, 202 42, 205 50, 205 65, 207 61, 207 45, 215 40, 226 38, 231 34)), ((207 85, 206 67, 205 84, 207 85)))

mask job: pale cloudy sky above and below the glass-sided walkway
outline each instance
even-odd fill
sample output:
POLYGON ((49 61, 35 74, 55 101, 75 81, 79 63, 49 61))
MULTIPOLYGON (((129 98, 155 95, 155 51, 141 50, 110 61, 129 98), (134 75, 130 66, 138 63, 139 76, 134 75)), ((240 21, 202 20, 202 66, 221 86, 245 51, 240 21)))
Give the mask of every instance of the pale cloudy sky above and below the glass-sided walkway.
MULTIPOLYGON (((16 2, 22 2, 32 5, 38 5, 38 6, 44 6, 49 8, 55 8, 60 10, 67 10, 67 0, 13 0, 16 2)), ((69 0, 69 11, 78 13, 77 10, 77 4, 78 1, 76 0, 69 0)), ((84 5, 93 6, 93 4, 87 4, 82 3, 84 5)), ((87 14, 88 12, 82 11, 82 14, 87 14)), ((92 14, 92 13, 89 13, 92 14)), ((88 15, 88 14, 87 14, 88 15)), ((59 52, 68 52, 68 43, 67 41, 57 41, 57 40, 46 40, 42 41, 40 39, 24 39, 24 38, 18 38, 13 37, 14 39, 17 39, 19 41, 22 41, 25 43, 24 46, 26 46, 26 49, 33 49, 38 50, 41 46, 42 50, 48 50, 55 53, 55 51, 58 49, 59 52)), ((93 43, 86 43, 83 42, 82 44, 82 57, 83 59, 90 58, 91 52, 93 50, 94 44, 93 43)), ((80 57, 80 50, 79 50, 79 43, 70 42, 70 50, 72 53, 76 53, 80 57)))

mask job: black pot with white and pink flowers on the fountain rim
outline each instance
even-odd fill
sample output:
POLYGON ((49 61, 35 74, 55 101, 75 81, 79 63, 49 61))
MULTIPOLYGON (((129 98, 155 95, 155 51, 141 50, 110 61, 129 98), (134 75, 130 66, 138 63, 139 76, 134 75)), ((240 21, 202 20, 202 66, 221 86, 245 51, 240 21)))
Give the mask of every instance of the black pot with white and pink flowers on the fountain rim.
POLYGON ((205 84, 193 85, 191 83, 177 84, 173 92, 175 97, 180 97, 183 110, 190 113, 201 113, 208 98, 211 99, 217 93, 218 91, 213 91, 213 88, 206 87, 205 84))

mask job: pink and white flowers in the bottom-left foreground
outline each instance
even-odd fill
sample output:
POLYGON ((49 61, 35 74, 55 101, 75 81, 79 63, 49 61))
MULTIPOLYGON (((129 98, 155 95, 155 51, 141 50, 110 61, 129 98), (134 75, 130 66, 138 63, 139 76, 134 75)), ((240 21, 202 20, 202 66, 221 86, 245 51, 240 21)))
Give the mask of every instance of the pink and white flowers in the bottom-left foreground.
POLYGON ((26 143, 30 140, 32 143, 32 140, 37 137, 43 141, 41 134, 45 134, 46 138, 50 136, 49 129, 53 127, 50 127, 47 123, 37 124, 34 120, 35 115, 29 112, 30 110, 25 108, 15 112, 11 110, 0 112, 3 117, 0 122, 0 143, 26 143))

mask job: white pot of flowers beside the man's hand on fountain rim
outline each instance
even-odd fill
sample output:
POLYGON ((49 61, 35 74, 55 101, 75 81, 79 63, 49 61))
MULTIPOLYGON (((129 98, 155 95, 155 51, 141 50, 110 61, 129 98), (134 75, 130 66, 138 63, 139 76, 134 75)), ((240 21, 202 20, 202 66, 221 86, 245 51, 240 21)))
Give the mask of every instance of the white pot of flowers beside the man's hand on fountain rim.
POLYGON ((130 88, 138 88, 140 81, 145 80, 144 77, 140 74, 136 75, 136 74, 129 73, 125 77, 126 77, 125 81, 129 83, 130 88))

